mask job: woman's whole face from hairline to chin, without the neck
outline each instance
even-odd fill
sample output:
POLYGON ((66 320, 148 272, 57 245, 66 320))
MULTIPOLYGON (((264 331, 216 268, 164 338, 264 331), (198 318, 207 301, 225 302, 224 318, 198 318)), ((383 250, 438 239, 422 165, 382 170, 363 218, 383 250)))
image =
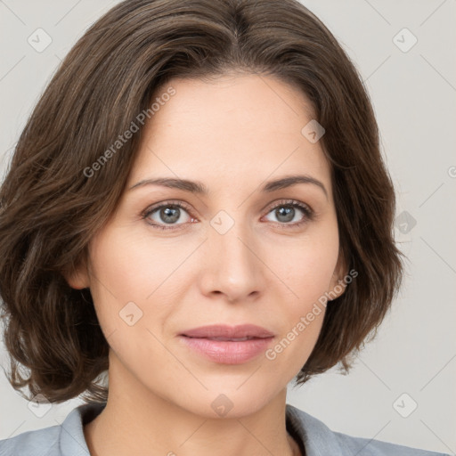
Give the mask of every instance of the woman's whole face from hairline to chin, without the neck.
POLYGON ((303 367, 324 306, 306 316, 344 275, 330 168, 309 126, 301 132, 308 100, 278 79, 170 85, 175 95, 146 126, 117 212, 90 244, 89 274, 70 284, 91 289, 110 385, 207 417, 220 405, 241 416, 303 367), (291 175, 320 184, 272 184, 291 175), (152 179, 207 193, 172 182, 131 189, 152 179), (191 332, 246 324, 265 332, 191 332), (251 339, 233 340, 242 336, 251 339))

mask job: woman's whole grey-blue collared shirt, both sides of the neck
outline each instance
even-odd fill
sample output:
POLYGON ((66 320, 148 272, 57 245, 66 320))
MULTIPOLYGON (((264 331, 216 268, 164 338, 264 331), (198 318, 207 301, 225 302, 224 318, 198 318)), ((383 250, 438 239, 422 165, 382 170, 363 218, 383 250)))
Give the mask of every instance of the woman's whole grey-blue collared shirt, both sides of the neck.
MULTIPOLYGON (((0 441, 0 456, 90 456, 83 426, 105 403, 86 403, 69 413, 59 426, 24 432, 0 441)), ((287 404, 287 430, 306 456, 450 456, 379 440, 333 432, 322 421, 287 404)))

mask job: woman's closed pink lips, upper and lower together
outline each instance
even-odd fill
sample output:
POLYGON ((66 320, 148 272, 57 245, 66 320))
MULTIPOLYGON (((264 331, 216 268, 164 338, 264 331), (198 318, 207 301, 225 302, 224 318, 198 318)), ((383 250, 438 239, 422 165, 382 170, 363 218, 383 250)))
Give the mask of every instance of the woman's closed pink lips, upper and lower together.
POLYGON ((185 330, 179 335, 179 338, 185 346, 202 354, 210 361, 221 364, 240 364, 264 353, 267 346, 271 344, 274 334, 252 324, 239 326, 216 324, 185 330), (239 338, 247 339, 229 340, 239 338))

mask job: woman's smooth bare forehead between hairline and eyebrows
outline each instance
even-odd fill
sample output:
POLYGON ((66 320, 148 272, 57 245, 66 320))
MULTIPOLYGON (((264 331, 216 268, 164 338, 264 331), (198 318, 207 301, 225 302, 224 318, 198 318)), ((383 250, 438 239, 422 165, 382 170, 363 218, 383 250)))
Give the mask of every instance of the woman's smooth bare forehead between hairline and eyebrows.
POLYGON ((175 94, 146 124, 129 183, 166 175, 210 189, 305 173, 330 188, 320 143, 301 133, 313 107, 297 88, 259 75, 173 79, 162 92, 169 86, 175 94))

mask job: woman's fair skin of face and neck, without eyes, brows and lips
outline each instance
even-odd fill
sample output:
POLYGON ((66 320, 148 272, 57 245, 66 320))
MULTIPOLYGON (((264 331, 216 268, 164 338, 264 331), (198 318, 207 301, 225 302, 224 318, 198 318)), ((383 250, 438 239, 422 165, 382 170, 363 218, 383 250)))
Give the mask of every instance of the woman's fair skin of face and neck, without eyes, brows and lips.
POLYGON ((274 346, 345 275, 330 167, 320 143, 301 134, 311 105, 275 77, 169 85, 176 94, 146 125, 126 189, 179 177, 204 183, 209 194, 156 185, 126 190, 90 243, 88 267, 67 278, 73 288, 90 287, 110 344, 110 395, 85 426, 86 441, 97 456, 298 454, 285 428, 286 387, 314 348, 324 310, 274 360, 260 354, 237 365, 211 362, 178 335, 253 323, 274 333, 274 346), (318 179, 328 196, 309 183, 259 191, 294 174, 318 179), (305 220, 297 208, 283 222, 275 210, 287 206, 283 199, 305 203, 314 219, 293 227, 305 220), (170 225, 159 211, 142 218, 144 209, 169 200, 190 208, 181 209, 175 229, 148 223, 170 225), (224 234, 211 225, 219 211, 234 223, 224 234), (133 326, 119 317, 128 302, 142 311, 133 326), (232 403, 223 417, 211 407, 222 394, 232 403))

